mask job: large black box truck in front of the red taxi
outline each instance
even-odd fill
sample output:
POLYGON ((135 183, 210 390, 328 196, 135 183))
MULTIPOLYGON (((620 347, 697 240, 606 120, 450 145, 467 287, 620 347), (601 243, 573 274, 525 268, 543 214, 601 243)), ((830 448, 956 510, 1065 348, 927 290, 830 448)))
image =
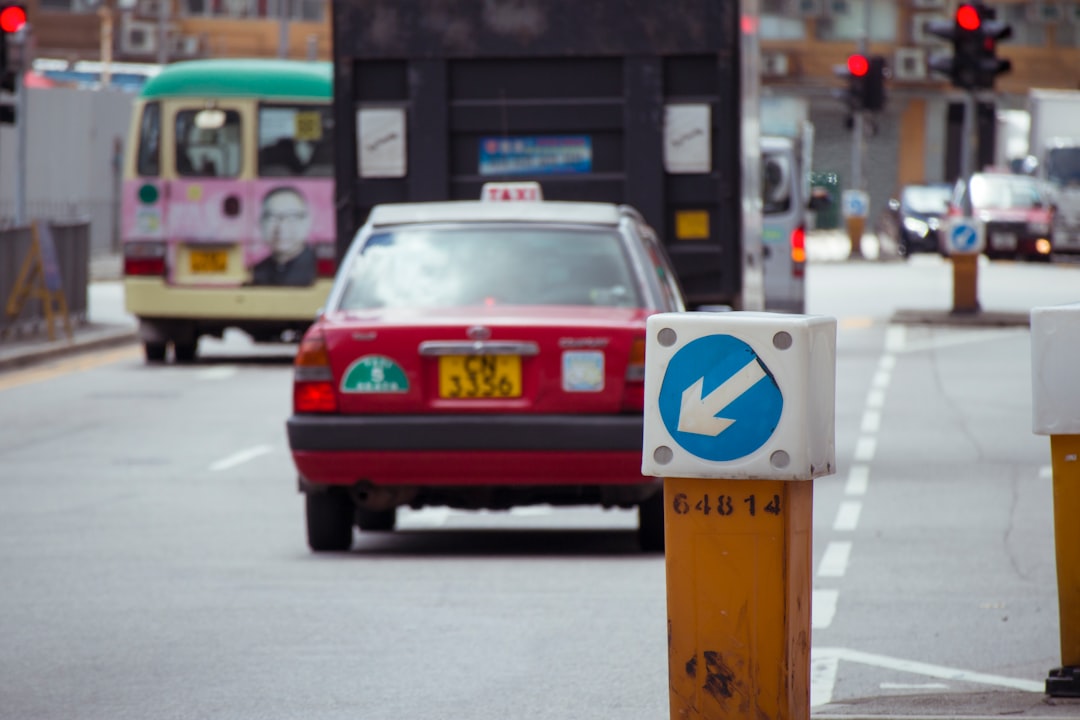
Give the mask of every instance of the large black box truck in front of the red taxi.
POLYGON ((632 205, 691 307, 759 309, 756 37, 739 0, 332 0, 338 254, 379 203, 632 205), (747 103, 747 98, 753 103, 747 103), (747 111, 747 108, 753 108, 747 111))

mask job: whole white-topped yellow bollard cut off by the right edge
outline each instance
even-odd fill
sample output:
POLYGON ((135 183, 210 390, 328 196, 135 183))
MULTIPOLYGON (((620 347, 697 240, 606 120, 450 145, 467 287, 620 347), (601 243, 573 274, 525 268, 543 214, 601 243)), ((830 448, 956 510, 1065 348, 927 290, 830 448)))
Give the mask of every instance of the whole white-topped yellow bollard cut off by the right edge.
POLYGON ((1080 697, 1080 303, 1031 310, 1032 430, 1050 435, 1062 666, 1047 694, 1080 697))

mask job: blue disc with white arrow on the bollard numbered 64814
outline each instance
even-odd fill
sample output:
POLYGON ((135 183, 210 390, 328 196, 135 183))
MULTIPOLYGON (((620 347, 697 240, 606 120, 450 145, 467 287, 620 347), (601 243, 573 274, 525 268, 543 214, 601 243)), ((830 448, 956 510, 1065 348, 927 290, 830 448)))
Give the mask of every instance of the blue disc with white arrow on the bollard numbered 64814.
POLYGON ((659 405, 664 427, 684 450, 723 462, 744 458, 772 437, 784 397, 748 344, 708 335, 672 357, 659 405))

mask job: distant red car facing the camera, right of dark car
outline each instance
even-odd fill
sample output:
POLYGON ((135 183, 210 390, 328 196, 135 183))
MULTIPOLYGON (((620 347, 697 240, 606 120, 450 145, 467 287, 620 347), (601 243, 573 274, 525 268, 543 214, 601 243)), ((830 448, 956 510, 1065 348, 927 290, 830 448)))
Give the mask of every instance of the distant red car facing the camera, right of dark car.
POLYGON ((1053 204, 1041 181, 1027 175, 975 173, 968 182, 957 181, 950 214, 963 212, 969 192, 973 216, 986 231, 988 258, 1050 260, 1053 204))

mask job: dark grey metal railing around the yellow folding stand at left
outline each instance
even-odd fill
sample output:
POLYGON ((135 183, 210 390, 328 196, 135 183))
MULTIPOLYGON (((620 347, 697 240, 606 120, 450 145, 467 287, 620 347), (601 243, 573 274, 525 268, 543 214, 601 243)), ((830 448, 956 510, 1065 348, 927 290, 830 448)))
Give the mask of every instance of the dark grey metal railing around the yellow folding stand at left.
MULTIPOLYGON (((68 318, 72 326, 82 325, 86 318, 86 284, 90 275, 90 222, 53 222, 53 242, 59 264, 60 288, 67 302, 68 318)), ((0 230, 0 344, 5 340, 27 336, 48 335, 43 303, 38 299, 27 299, 22 312, 8 315, 8 302, 15 290, 23 264, 27 261, 32 234, 29 227, 0 230)), ((53 331, 64 336, 64 325, 59 315, 54 317, 53 331)))

